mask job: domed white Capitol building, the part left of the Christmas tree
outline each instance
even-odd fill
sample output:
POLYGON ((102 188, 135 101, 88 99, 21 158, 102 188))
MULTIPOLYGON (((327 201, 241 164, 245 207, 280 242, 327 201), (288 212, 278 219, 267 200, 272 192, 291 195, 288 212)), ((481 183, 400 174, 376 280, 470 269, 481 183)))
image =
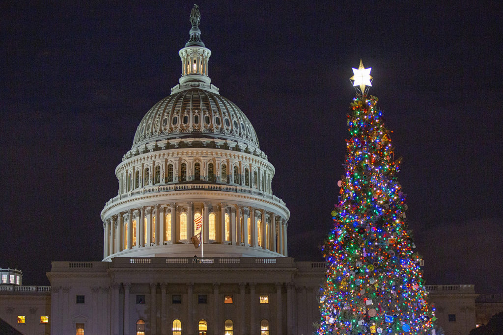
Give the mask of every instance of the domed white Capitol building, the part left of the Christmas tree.
POLYGON ((52 262, 50 287, 20 286, 19 273, 19 285, 0 285, 12 331, 314 331, 325 264, 288 257, 290 211, 273 194, 275 168, 243 111, 211 83, 200 18, 195 6, 179 83, 141 119, 115 169, 103 261, 52 262))

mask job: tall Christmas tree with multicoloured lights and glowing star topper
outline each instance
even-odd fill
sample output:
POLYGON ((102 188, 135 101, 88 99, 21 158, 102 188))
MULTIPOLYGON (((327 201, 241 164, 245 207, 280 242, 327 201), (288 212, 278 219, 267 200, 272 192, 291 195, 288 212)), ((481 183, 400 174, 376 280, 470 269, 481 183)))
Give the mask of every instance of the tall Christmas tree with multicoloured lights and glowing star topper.
POLYGON ((348 115, 346 173, 323 247, 327 278, 318 333, 435 335, 397 180, 401 159, 394 159, 377 98, 365 90, 372 86, 370 70, 360 61, 351 78, 360 92, 348 115))

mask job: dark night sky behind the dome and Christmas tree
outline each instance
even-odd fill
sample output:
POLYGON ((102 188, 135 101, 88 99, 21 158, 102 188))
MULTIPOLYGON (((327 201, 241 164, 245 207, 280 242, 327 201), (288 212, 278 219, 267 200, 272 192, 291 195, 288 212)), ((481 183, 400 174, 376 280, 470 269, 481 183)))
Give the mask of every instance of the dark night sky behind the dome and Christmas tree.
MULTIPOLYGON (((143 115, 178 83, 192 5, 0 5, 0 266, 22 269, 24 284, 48 284, 51 261, 101 260, 114 169, 143 115)), ((321 260, 362 58, 404 158, 426 283, 503 292, 499 2, 199 5, 212 83, 276 168, 290 256, 321 260)))

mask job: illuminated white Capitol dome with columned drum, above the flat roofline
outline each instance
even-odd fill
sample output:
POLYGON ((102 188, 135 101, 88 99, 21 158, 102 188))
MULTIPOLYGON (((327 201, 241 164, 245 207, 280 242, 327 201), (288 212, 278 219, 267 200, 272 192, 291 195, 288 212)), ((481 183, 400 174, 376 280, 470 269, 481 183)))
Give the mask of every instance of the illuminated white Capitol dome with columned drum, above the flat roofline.
POLYGON ((182 76, 147 111, 101 212, 113 257, 286 257, 290 211, 244 113, 208 76, 211 51, 191 15, 182 76), (202 240, 202 241, 201 241, 202 240), (196 248, 197 247, 197 248, 196 248))

